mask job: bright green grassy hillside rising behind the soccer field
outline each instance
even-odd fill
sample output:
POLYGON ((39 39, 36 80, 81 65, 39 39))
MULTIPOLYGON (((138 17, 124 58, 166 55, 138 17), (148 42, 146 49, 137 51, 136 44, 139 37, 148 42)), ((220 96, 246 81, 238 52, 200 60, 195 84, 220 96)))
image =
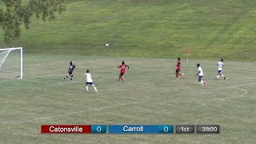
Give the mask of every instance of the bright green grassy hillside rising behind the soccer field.
POLYGON ((126 58, 183 58, 190 47, 194 59, 256 60, 254 0, 85 0, 66 6, 55 22, 34 19, 14 46, 26 53, 126 58))

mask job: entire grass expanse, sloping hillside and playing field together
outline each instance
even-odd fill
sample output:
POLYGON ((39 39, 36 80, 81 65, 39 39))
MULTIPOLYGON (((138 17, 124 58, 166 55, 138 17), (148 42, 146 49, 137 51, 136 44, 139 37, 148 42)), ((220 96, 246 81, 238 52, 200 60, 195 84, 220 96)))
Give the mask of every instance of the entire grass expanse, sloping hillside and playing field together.
POLYGON ((0 79, 0 143, 254 143, 254 0, 70 0, 66 6, 54 22, 34 18, 14 43, 24 47, 25 78, 0 79), (189 63, 183 62, 187 47, 189 63), (178 82, 177 57, 186 74, 178 82), (221 57, 227 79, 215 81, 221 57), (74 81, 62 81, 70 60, 78 66, 74 81), (117 82, 122 60, 131 69, 126 82, 117 82), (198 62, 205 88, 194 76, 198 62), (98 94, 85 91, 86 69, 98 94), (221 134, 50 135, 40 134, 42 124, 219 124, 221 134))

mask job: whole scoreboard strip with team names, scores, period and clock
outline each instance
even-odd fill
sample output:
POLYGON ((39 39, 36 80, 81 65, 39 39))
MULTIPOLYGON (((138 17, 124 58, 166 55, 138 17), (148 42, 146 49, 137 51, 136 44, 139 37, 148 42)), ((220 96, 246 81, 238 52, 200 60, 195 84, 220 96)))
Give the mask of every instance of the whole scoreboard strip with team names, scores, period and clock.
POLYGON ((42 125, 42 134, 219 134, 219 125, 42 125))

